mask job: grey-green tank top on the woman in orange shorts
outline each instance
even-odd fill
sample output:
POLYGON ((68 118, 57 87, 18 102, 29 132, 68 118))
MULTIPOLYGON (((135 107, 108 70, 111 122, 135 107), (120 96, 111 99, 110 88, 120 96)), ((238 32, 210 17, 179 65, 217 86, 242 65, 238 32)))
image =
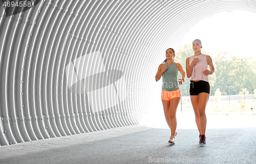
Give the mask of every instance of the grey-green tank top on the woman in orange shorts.
POLYGON ((173 64, 170 64, 170 65, 168 65, 167 63, 164 63, 164 65, 167 66, 167 69, 162 74, 162 77, 163 77, 162 90, 164 90, 164 91, 176 91, 176 90, 178 90, 179 86, 178 86, 177 76, 178 76, 178 71, 179 70, 176 66, 176 63, 174 62, 173 64))

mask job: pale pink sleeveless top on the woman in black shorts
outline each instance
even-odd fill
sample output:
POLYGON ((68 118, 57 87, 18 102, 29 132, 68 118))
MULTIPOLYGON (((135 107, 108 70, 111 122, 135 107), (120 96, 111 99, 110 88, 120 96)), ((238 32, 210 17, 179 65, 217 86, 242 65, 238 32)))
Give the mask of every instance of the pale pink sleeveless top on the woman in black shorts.
POLYGON ((199 58, 197 63, 193 66, 192 74, 190 80, 203 80, 208 82, 208 75, 204 75, 203 71, 208 69, 208 64, 206 61, 206 54, 201 54, 200 56, 189 57, 189 65, 195 58, 199 58))

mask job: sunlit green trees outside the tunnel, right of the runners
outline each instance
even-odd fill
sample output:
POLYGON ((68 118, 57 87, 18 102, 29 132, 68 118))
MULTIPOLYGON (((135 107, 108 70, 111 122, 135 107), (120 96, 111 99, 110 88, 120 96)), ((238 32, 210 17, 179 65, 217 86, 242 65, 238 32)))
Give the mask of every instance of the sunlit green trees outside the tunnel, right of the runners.
POLYGON ((228 52, 221 52, 214 59, 216 62, 216 83, 214 89, 220 88, 222 95, 239 94, 243 88, 249 93, 256 88, 256 66, 253 58, 238 58, 228 52), (229 87, 230 84, 230 87, 229 87))

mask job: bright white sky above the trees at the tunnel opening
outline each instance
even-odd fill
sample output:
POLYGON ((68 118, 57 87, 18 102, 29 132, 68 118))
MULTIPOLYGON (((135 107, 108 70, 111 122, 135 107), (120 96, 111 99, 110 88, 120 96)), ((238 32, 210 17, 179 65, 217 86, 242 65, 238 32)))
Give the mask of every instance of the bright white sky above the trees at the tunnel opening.
POLYGON ((256 57, 256 14, 247 11, 221 12, 197 23, 181 46, 195 39, 214 56, 227 51, 237 57, 256 57))

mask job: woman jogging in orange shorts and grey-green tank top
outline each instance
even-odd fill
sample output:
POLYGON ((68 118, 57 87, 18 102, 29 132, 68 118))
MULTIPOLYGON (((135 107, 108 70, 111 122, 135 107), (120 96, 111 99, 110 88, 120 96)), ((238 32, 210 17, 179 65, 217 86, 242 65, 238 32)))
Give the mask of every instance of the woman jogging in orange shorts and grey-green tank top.
POLYGON ((175 136, 177 135, 176 111, 181 97, 178 81, 179 84, 182 85, 186 74, 182 65, 174 62, 175 51, 173 48, 168 48, 165 51, 165 57, 164 62, 158 67, 156 81, 158 81, 161 76, 163 77, 161 99, 164 116, 171 133, 168 142, 175 144, 175 136), (181 73, 182 79, 177 80, 178 72, 181 73))

